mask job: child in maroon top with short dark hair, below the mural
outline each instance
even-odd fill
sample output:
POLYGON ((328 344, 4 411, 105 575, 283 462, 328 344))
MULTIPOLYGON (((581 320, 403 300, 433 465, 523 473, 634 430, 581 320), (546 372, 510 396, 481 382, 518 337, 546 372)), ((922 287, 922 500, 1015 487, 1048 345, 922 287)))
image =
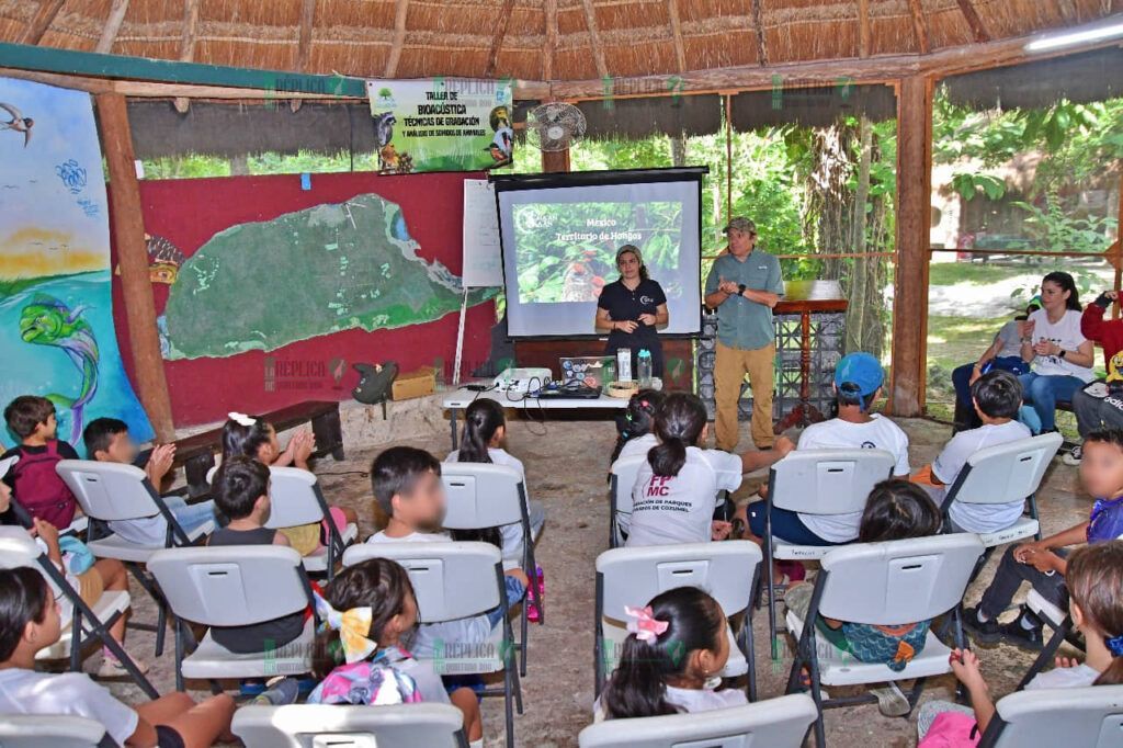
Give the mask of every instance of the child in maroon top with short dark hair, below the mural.
POLYGON ((19 457, 4 482, 31 517, 65 530, 74 520, 77 501, 55 472, 55 465, 77 459, 77 453, 56 437, 54 404, 46 398, 20 395, 3 409, 3 419, 20 440, 19 446, 0 455, 0 459, 19 457))

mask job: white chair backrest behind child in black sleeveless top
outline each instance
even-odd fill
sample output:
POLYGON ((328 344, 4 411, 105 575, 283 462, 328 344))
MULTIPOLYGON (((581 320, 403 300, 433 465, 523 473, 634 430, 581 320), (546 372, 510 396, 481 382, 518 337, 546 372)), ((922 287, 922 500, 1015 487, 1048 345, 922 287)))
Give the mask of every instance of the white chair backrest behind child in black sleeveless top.
POLYGON ((310 602, 300 554, 284 546, 167 548, 147 565, 172 612, 195 623, 249 626, 310 602))

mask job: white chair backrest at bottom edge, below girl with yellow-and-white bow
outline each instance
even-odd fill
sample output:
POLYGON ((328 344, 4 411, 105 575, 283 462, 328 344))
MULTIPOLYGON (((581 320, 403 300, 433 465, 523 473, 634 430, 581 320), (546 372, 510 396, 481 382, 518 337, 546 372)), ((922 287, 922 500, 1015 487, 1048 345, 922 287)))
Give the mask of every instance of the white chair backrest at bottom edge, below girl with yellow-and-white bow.
POLYGON ((465 748, 451 704, 243 706, 231 730, 246 748, 465 748))

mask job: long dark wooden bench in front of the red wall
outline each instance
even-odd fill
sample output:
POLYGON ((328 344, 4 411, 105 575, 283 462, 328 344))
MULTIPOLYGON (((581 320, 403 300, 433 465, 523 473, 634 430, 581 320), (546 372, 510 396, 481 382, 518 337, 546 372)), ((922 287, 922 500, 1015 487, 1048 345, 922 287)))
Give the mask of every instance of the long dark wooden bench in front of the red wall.
MULTIPOLYGON (((339 422, 339 403, 310 400, 281 408, 261 416, 281 431, 303 423, 312 423, 316 436, 313 457, 330 454, 336 459, 344 458, 344 432, 339 422)), ((211 429, 202 434, 179 439, 175 444, 174 467, 186 472, 188 495, 201 496, 210 491, 207 473, 214 467, 214 454, 222 450, 222 429, 211 429)))

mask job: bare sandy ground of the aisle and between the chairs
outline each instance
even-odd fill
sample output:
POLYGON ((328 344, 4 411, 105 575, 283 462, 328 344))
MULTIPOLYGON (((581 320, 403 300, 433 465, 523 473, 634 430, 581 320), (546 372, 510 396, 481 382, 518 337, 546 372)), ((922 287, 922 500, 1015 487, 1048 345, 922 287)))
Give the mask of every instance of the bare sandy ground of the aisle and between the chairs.
MULTIPOLYGON (((914 468, 931 460, 949 437, 947 426, 931 421, 905 420, 901 425, 912 440, 914 468)), ((524 462, 531 496, 541 501, 548 512, 538 544, 538 563, 546 575, 547 623, 532 626, 530 631, 529 673, 522 682, 526 712, 515 718, 519 746, 576 746, 577 733, 591 722, 594 562, 608 547, 605 473, 613 440, 610 421, 515 421, 510 426, 510 450, 524 462)), ((410 444, 440 457, 450 448, 447 431, 410 444)), ((741 444, 750 444, 747 435, 741 444)), ((317 466, 329 501, 358 511, 364 538, 377 529, 365 474, 376 454, 353 449, 343 463, 327 459, 317 466)), ((737 498, 748 499, 763 478, 749 476, 737 498)), ((1044 531, 1053 532, 1086 518, 1088 504, 1088 498, 1078 492, 1075 468, 1054 460, 1039 494, 1044 531)), ((996 562, 997 557, 992 558, 992 567, 996 562)), ((987 571, 982 578, 989 576, 987 571)), ((968 601, 977 600, 982 590, 979 584, 973 587, 968 601)), ((131 592, 136 619, 153 620, 152 601, 136 583, 131 592)), ((769 662, 767 609, 763 612, 756 615, 754 631, 760 695, 768 699, 783 693, 791 660, 782 654, 779 662, 769 662)), ((159 659, 153 659, 153 647, 152 633, 129 632, 127 648, 152 663, 153 683, 166 693, 174 688, 172 647, 170 644, 159 659)), ((1033 659, 1004 645, 982 649, 980 657, 996 696, 1012 691, 1033 659)), ((85 669, 95 671, 99 660, 100 656, 92 654, 85 669)), ((109 685, 127 702, 143 700, 141 692, 130 683, 109 685)), ((207 694, 206 683, 189 682, 189 687, 197 696, 207 694)), ((953 687, 950 676, 930 679, 923 700, 948 699, 953 687)), ((486 745, 504 745, 502 700, 486 700, 483 710, 486 745)), ((874 705, 831 710, 827 713, 828 740, 832 746, 913 746, 914 715, 884 718, 874 705)))

